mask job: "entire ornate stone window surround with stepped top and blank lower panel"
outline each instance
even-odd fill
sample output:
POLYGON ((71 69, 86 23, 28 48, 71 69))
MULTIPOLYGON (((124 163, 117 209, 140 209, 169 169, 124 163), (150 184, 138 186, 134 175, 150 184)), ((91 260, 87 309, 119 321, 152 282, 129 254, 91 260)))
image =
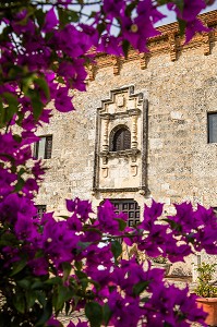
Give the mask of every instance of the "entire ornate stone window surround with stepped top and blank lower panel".
POLYGON ((111 90, 110 98, 101 101, 97 110, 94 190, 138 190, 143 184, 138 172, 145 162, 144 136, 138 135, 145 133, 146 109, 143 94, 135 94, 133 85, 111 90), (119 133, 124 129, 129 131, 128 137, 119 133))

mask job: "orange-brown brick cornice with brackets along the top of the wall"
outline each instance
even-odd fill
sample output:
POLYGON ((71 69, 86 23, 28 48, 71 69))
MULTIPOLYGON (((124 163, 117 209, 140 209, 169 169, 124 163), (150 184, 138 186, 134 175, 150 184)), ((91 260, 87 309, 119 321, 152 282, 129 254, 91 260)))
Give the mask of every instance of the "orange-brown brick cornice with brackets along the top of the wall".
POLYGON ((148 52, 138 53, 138 51, 131 49, 128 58, 114 57, 106 53, 98 53, 96 59, 97 69, 105 66, 113 66, 113 74, 119 75, 122 63, 132 60, 138 60, 141 69, 147 68, 148 58, 168 53, 171 61, 178 59, 178 52, 185 51, 191 48, 204 48, 204 55, 210 53, 210 43, 217 40, 217 10, 204 13, 198 16, 204 25, 212 28, 209 33, 196 34, 192 40, 185 44, 184 36, 179 34, 178 23, 171 23, 158 27, 160 35, 152 37, 147 41, 148 52))

